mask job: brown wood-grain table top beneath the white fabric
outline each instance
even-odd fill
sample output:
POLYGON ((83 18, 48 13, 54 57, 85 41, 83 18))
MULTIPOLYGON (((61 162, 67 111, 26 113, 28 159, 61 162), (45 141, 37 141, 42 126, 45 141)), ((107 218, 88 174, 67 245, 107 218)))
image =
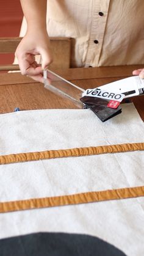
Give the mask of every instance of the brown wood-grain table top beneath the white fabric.
MULTIPOLYGON (((77 86, 87 89, 132 76, 132 70, 140 67, 142 65, 70 68, 54 71, 77 86)), ((144 96, 132 98, 132 101, 144 121, 144 96)), ((21 110, 77 108, 70 100, 49 92, 43 84, 22 76, 20 73, 0 74, 0 102, 1 114, 13 112, 17 107, 21 110)))

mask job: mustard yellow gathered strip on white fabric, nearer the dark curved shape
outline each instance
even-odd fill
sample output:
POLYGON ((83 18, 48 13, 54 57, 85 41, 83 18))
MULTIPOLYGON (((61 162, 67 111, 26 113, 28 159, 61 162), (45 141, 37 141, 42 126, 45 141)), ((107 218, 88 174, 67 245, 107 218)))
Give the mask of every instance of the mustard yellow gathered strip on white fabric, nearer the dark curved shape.
POLYGON ((144 196, 144 186, 0 203, 0 213, 144 196))

